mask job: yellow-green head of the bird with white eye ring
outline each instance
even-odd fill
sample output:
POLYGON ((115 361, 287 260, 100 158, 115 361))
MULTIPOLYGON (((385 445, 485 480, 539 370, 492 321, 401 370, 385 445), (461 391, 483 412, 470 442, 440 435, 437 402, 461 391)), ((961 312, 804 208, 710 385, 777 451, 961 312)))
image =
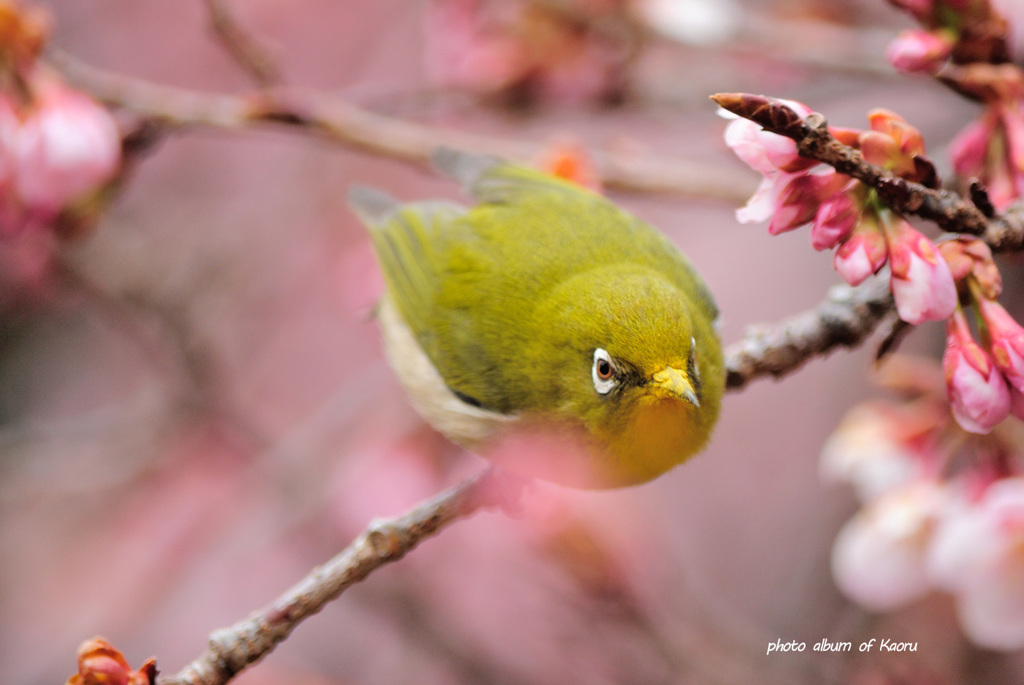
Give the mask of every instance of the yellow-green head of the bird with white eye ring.
MULTIPOLYGON (((713 322, 642 267, 581 274, 539 306, 550 409, 581 424, 598 475, 642 482, 701 448, 724 391, 713 322)), ((573 483, 574 484, 574 483, 573 483)))

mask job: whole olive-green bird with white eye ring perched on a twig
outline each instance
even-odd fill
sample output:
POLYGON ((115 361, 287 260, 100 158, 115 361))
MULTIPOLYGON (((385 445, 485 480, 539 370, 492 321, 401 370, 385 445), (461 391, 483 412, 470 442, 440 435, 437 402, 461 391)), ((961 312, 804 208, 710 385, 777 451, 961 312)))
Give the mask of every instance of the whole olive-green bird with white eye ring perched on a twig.
POLYGON ((572 182, 453 149, 474 207, 354 186, 386 282, 385 352, 417 411, 504 468, 647 481, 701 449, 725 387, 718 309, 654 228, 572 182))

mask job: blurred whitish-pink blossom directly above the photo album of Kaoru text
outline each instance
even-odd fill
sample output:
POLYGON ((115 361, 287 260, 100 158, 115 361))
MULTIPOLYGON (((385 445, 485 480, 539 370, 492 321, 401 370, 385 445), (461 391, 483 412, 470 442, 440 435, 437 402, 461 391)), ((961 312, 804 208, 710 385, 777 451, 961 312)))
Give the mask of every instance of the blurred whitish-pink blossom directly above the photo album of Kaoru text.
POLYGON ((931 590, 926 572, 932 531, 947 502, 933 481, 891 489, 840 530, 833 575, 840 589, 868 609, 885 611, 931 590))

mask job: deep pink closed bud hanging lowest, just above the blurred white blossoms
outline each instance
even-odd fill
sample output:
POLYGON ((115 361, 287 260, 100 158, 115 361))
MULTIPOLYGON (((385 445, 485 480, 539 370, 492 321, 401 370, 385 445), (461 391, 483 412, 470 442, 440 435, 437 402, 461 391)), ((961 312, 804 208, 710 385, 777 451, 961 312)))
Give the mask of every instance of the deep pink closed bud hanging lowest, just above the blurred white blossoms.
POLYGON ((964 311, 946 324, 942 366, 953 416, 969 433, 987 433, 1010 415, 1010 391, 988 353, 975 342, 964 311))

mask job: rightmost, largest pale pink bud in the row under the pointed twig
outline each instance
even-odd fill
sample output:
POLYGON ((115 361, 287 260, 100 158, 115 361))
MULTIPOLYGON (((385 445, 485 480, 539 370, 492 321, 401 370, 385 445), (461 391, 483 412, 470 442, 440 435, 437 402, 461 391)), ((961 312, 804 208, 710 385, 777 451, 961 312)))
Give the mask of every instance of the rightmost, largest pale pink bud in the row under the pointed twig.
POLYGON ((935 245, 903 219, 886 227, 890 287, 896 311, 907 324, 938 322, 956 308, 956 285, 935 245))

